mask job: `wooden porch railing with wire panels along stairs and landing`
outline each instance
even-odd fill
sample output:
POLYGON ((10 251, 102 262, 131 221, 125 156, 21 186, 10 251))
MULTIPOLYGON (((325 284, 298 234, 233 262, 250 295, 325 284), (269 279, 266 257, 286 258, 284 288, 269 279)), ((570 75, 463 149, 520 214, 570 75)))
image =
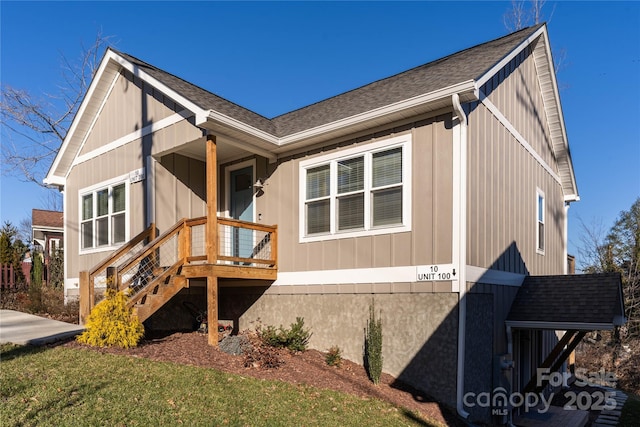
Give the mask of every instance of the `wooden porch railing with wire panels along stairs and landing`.
MULTIPOLYGON (((182 219, 162 235, 155 225, 134 237, 110 257, 90 271, 80 273, 80 323, 96 303, 95 289, 113 286, 130 290, 130 304, 142 300, 150 284, 168 283, 184 266, 197 267, 188 277, 210 273, 216 266, 224 267, 224 277, 241 269, 277 269, 277 227, 265 226, 229 218, 217 218, 218 254, 215 264, 207 263, 207 218, 182 219), (151 240, 144 245, 145 241, 151 240), (231 268, 231 270, 230 270, 231 268), (231 271, 231 273, 229 273, 231 271)), ((184 279, 184 277, 183 277, 184 279)))

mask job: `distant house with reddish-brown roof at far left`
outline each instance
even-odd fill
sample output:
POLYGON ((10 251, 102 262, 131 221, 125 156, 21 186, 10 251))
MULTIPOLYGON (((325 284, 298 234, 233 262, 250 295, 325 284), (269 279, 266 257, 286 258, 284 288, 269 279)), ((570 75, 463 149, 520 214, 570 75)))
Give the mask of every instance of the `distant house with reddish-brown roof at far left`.
POLYGON ((50 280, 50 261, 55 251, 63 249, 64 215, 59 211, 45 209, 31 210, 31 240, 35 252, 42 253, 44 261, 44 282, 50 280))

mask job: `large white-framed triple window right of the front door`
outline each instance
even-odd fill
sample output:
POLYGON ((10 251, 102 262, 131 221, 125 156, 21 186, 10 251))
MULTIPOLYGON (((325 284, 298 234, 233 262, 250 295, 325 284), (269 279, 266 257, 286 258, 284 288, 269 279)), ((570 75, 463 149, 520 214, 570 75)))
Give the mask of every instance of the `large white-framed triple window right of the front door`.
POLYGON ((408 231, 410 136, 301 162, 301 241, 408 231))

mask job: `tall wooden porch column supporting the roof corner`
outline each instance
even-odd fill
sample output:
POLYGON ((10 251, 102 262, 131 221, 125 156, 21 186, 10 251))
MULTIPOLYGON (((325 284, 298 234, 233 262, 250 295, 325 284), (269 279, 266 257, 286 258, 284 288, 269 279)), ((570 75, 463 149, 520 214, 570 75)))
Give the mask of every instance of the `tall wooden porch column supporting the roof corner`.
POLYGON ((207 321, 209 345, 218 345, 218 277, 213 265, 218 259, 218 156, 215 135, 207 135, 207 321))

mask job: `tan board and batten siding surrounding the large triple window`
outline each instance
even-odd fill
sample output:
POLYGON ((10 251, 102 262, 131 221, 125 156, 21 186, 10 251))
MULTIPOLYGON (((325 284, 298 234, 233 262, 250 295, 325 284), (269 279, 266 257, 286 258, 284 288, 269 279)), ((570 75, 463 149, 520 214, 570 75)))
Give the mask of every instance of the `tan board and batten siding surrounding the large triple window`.
MULTIPOLYGON (((260 163, 258 163, 260 165, 260 163)), ((376 132, 311 154, 284 158, 270 168, 257 215, 278 225, 278 269, 281 272, 397 267, 451 262, 452 230, 451 115, 421 120, 376 132), (300 161, 339 153, 394 136, 412 137, 411 231, 374 236, 299 242, 300 161)))

